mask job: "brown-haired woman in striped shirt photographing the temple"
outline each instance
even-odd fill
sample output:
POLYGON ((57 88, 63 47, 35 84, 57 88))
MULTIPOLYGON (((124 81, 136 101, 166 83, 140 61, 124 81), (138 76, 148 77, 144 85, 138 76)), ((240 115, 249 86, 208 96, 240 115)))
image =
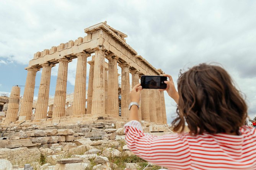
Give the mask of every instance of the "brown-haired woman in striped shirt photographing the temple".
MULTIPOLYGON (((143 133, 138 107, 132 105, 124 126, 128 148, 172 170, 256 170, 256 129, 244 125, 247 106, 230 75, 222 67, 199 64, 179 75, 178 91, 165 76, 165 90, 178 105, 173 130, 181 133, 143 133), (189 133, 183 132, 186 123, 189 133)), ((141 90, 135 85, 131 102, 139 103, 141 90)))

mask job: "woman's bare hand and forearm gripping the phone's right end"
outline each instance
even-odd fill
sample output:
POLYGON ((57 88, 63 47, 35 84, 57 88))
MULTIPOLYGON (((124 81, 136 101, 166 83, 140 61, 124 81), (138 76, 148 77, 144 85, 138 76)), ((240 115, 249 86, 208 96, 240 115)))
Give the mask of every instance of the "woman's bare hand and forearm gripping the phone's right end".
POLYGON ((163 74, 163 76, 166 76, 169 78, 169 81, 165 81, 165 83, 167 84, 166 89, 160 89, 160 91, 164 91, 166 90, 168 95, 174 99, 174 101, 178 104, 179 102, 179 94, 178 91, 175 89, 174 83, 173 83, 173 78, 171 77, 171 75, 168 74, 163 74))

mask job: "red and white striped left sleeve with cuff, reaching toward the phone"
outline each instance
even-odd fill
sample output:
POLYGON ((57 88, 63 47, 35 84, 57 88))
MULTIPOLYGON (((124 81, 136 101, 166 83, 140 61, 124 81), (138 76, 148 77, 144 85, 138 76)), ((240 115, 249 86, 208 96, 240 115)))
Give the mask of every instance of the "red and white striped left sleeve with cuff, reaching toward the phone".
POLYGON ((137 120, 126 123, 124 132, 128 148, 142 159, 164 167, 189 169, 191 154, 188 141, 183 135, 145 134, 137 120))

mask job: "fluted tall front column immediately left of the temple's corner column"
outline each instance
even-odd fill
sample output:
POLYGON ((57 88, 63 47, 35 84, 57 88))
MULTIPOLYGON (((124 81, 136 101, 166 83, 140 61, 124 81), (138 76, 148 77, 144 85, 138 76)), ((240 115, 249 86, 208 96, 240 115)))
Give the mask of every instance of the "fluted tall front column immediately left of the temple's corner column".
POLYGON ((89 53, 78 53, 77 72, 75 75, 75 90, 73 101, 73 115, 85 114, 86 106, 86 64, 89 53))

